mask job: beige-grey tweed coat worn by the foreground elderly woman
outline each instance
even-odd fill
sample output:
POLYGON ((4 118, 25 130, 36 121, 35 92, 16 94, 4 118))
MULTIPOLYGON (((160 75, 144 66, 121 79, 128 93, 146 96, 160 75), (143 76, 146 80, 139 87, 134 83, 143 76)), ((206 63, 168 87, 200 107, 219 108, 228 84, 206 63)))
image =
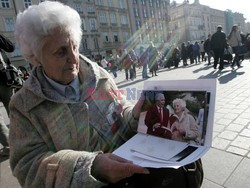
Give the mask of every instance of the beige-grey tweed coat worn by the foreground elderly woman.
POLYGON ((80 59, 80 102, 69 101, 53 90, 41 67, 33 70, 12 98, 10 165, 22 187, 70 187, 79 159, 84 161, 83 187, 100 187, 103 183, 90 173, 95 156, 112 151, 134 134, 137 122, 124 97, 89 97, 90 91, 98 96, 97 91, 117 90, 113 79, 86 57, 80 59), (123 106, 116 129, 107 118, 111 103, 123 106))

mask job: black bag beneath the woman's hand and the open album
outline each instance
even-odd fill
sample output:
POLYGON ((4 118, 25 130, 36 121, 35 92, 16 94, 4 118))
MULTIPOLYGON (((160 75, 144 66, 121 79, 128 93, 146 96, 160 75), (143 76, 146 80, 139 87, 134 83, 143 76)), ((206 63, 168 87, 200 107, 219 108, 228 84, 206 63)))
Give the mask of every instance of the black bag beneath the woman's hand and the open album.
POLYGON ((135 174, 105 188, 200 188, 203 182, 201 159, 180 167, 148 168, 150 174, 135 174))

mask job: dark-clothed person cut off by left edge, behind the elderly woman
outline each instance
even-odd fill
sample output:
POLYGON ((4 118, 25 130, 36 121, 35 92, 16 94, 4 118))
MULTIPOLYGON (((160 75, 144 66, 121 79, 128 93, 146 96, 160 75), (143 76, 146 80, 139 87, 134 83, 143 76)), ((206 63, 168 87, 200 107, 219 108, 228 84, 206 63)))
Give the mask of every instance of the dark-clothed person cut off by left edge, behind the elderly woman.
MULTIPOLYGON (((10 87, 7 82, 6 68, 10 65, 10 60, 5 52, 13 52, 15 50, 14 44, 0 35, 0 101, 3 103, 4 108, 9 115, 9 102, 11 96, 14 94, 14 89, 10 87)), ((3 148, 0 150, 0 156, 9 155, 9 129, 4 122, 2 113, 0 112, 0 143, 3 148)))

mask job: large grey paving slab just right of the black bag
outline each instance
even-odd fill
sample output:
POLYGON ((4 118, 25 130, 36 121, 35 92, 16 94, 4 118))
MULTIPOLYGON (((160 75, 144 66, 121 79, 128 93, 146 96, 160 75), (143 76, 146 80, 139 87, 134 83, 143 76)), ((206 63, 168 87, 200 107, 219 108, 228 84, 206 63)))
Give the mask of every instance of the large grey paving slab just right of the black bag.
POLYGON ((211 148, 202 158, 205 178, 223 185, 241 160, 241 156, 211 148))

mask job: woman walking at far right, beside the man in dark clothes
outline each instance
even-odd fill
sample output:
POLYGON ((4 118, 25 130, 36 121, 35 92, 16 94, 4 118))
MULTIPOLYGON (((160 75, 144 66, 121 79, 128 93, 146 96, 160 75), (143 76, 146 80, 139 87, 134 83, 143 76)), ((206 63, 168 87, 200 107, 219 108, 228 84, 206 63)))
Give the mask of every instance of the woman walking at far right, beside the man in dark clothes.
POLYGON ((232 30, 228 36, 228 43, 232 47, 233 53, 234 53, 234 59, 233 59, 233 63, 231 67, 234 68, 234 65, 236 64, 238 68, 240 68, 241 66, 240 66, 240 61, 239 61, 238 48, 242 44, 242 41, 241 41, 241 35, 238 29, 238 25, 234 25, 232 27, 232 30))

